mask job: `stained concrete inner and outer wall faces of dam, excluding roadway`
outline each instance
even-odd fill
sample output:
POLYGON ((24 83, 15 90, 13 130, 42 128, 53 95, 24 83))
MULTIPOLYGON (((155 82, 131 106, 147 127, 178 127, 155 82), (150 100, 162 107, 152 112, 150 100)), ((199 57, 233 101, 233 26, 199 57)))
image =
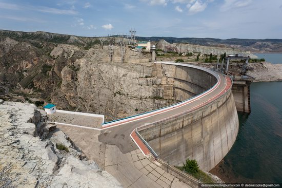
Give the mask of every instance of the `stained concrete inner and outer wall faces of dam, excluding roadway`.
MULTIPOLYGON (((163 65, 162 70, 173 79, 173 97, 177 100, 204 92, 217 82, 203 70, 169 65, 163 65)), ((189 158, 195 159, 200 169, 210 171, 231 149, 238 127, 230 88, 205 106, 137 130, 158 157, 170 165, 183 165, 189 158)))

